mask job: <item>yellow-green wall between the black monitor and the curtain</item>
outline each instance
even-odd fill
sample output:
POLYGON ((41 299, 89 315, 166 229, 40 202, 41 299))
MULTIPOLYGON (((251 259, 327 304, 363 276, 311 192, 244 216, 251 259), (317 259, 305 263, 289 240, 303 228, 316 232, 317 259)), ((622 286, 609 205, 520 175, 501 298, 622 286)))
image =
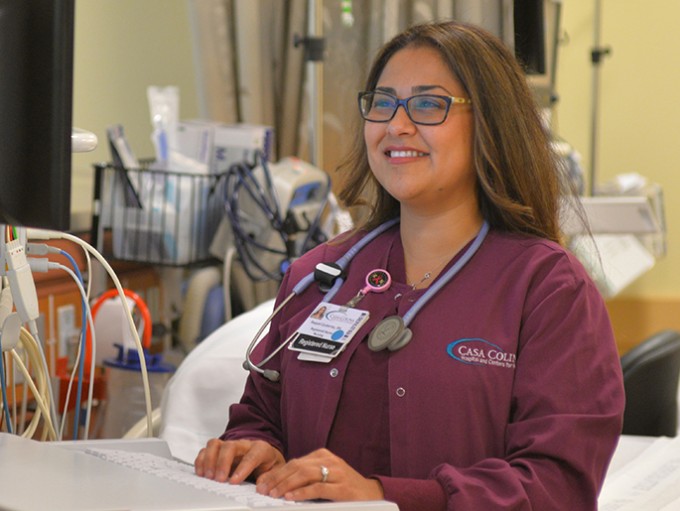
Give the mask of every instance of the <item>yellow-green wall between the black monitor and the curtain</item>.
POLYGON ((186 0, 76 2, 74 125, 98 148, 73 156, 72 228, 89 225, 92 163, 110 161, 106 128, 122 124, 138 157, 153 156, 149 85, 177 85, 180 117, 198 116, 186 0))

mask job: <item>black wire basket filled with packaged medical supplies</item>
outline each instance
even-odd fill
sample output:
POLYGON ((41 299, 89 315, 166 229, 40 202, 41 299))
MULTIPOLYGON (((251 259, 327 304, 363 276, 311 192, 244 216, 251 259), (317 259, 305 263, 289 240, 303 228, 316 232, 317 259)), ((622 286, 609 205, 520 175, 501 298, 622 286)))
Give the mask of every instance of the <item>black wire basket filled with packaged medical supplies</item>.
POLYGON ((94 164, 93 244, 113 259, 185 266, 211 259, 222 174, 94 164), (105 243, 111 232, 111 243, 105 243))

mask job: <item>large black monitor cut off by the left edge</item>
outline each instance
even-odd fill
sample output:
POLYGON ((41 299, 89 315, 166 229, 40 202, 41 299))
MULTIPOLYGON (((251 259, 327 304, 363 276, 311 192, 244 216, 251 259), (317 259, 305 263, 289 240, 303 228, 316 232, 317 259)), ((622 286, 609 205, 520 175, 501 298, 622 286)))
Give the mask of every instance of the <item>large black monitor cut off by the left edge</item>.
POLYGON ((75 0, 0 0, 0 223, 68 230, 75 0))

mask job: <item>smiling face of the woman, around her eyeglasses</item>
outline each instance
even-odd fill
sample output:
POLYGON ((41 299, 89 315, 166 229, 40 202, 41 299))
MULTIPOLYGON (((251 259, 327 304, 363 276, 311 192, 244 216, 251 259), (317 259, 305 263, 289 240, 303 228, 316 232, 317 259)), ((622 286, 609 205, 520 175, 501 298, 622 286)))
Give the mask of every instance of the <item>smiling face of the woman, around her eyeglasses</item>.
MULTIPOLYGON (((439 53, 407 47, 388 61, 376 90, 400 99, 415 94, 465 98, 439 53)), ((421 213, 478 210, 472 163, 472 106, 452 104, 436 126, 414 124, 403 107, 386 123, 365 122, 368 161, 380 184, 402 206, 421 213), (465 209, 460 209, 465 208, 465 209)))

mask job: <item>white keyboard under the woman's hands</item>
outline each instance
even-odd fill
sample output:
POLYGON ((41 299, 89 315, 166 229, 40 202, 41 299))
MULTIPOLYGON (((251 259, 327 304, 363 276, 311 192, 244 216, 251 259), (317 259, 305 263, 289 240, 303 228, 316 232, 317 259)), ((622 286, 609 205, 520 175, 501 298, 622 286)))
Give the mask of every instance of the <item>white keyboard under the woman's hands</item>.
POLYGON ((157 477, 169 479, 177 483, 191 486, 198 490, 228 497, 239 504, 244 504, 249 507, 274 508, 303 505, 297 502, 290 502, 283 499, 274 499, 265 495, 260 495, 255 491, 255 485, 252 483, 233 485, 199 477, 194 473, 194 467, 192 465, 147 452, 94 448, 85 449, 85 452, 111 463, 117 463, 118 465, 123 465, 134 470, 139 470, 140 472, 145 472, 157 477))

